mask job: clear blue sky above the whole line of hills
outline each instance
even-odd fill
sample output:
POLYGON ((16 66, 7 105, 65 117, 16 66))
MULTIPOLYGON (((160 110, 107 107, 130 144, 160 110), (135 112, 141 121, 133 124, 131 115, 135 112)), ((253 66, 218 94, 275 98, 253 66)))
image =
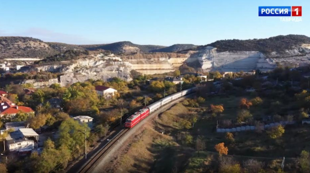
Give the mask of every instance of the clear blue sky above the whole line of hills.
POLYGON ((73 44, 207 44, 310 36, 310 0, 0 0, 0 36, 73 44), (258 6, 303 6, 302 22, 258 17, 258 6))

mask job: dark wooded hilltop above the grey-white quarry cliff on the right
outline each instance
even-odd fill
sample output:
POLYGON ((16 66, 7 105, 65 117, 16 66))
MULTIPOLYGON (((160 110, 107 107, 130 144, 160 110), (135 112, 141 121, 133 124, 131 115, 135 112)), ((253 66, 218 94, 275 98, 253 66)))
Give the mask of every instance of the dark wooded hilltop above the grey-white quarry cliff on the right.
POLYGON ((217 51, 260 51, 265 54, 271 52, 283 53, 287 49, 300 46, 302 44, 310 44, 310 38, 304 35, 287 35, 276 36, 268 39, 253 39, 253 40, 220 40, 214 43, 200 46, 213 46, 217 51))

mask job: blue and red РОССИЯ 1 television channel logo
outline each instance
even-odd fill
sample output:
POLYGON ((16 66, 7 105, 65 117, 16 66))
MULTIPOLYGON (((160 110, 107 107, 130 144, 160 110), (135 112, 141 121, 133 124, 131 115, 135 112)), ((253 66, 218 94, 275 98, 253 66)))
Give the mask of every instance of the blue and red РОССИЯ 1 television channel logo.
POLYGON ((259 6, 258 16, 302 16, 302 6, 259 6))

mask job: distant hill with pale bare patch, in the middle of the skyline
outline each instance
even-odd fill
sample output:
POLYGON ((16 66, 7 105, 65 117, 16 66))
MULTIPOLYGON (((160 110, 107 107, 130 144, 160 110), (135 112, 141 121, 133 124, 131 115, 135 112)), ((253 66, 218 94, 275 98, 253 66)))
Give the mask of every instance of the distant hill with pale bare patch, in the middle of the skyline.
POLYGON ((125 42, 116 42, 116 43, 109 43, 109 44, 92 44, 92 45, 80 45, 81 47, 87 49, 87 50, 97 50, 97 49, 103 49, 103 50, 110 50, 113 53, 148 53, 152 50, 160 49, 165 46, 161 45, 140 45, 140 44, 134 44, 128 41, 125 42))

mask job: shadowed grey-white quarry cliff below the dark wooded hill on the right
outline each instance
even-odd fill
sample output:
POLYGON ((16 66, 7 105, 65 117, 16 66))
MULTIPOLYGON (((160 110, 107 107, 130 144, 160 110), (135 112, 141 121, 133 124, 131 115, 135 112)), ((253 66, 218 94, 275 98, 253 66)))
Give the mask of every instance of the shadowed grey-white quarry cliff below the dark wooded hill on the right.
POLYGON ((310 64, 310 45, 303 44, 285 53, 272 52, 263 54, 258 51, 226 51, 218 52, 217 48, 206 46, 190 55, 190 59, 198 60, 201 68, 207 71, 261 71, 272 70, 279 62, 283 66, 299 67, 310 64))

